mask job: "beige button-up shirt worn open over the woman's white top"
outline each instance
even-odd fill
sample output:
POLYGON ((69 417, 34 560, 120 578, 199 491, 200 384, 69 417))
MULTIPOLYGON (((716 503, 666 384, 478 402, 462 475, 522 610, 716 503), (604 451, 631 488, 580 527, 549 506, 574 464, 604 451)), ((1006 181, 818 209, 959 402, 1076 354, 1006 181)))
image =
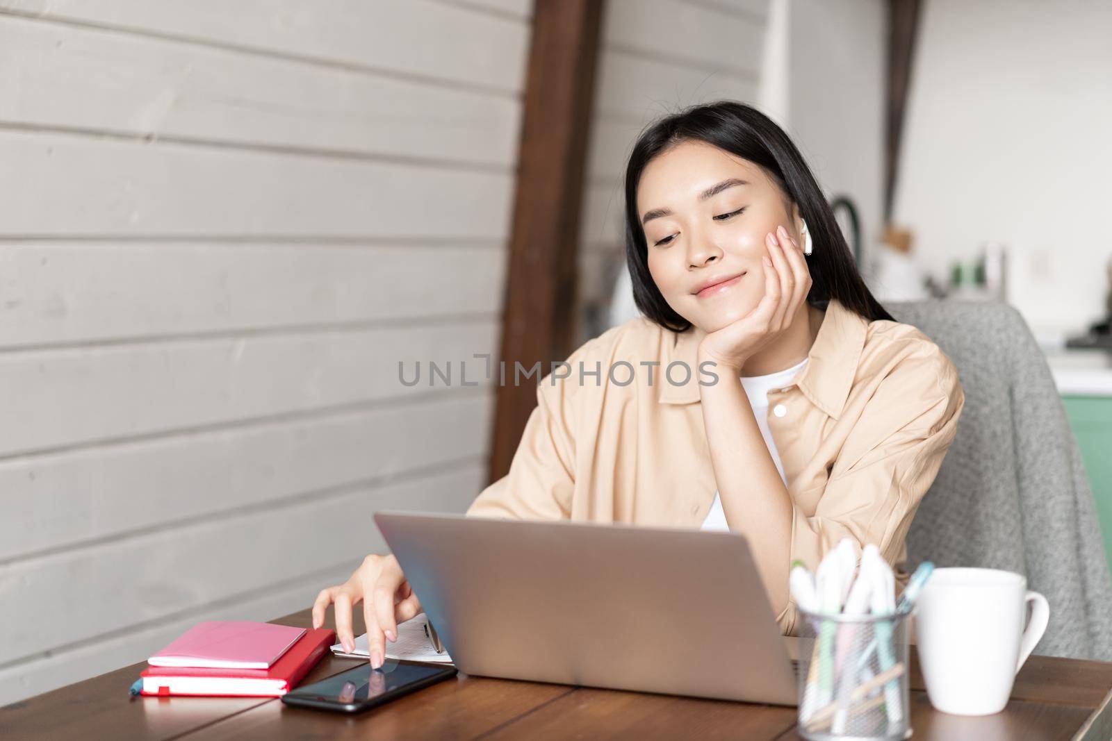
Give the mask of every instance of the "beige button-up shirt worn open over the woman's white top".
MULTIPOLYGON (((716 373, 698 367, 703 337, 637 318, 579 347, 540 380, 509 473, 467 514, 698 529, 718 489, 699 405, 699 383, 716 373)), ((964 401, 926 336, 831 301, 806 367, 768 394, 792 560, 814 570, 845 537, 875 543, 902 591, 907 528, 964 401)), ((776 619, 795 634, 794 601, 776 619)))

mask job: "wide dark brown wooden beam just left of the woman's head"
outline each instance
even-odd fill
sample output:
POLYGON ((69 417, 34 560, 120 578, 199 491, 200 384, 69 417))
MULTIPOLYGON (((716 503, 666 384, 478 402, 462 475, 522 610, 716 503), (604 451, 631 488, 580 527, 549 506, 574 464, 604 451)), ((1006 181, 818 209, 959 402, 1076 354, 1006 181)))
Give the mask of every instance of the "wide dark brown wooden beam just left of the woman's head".
MULTIPOLYGON (((489 480, 509 471, 536 407, 537 377, 514 385, 514 363, 574 348, 576 253, 603 0, 536 0, 509 244, 489 480)), ((497 369, 493 373, 496 382, 497 369)))

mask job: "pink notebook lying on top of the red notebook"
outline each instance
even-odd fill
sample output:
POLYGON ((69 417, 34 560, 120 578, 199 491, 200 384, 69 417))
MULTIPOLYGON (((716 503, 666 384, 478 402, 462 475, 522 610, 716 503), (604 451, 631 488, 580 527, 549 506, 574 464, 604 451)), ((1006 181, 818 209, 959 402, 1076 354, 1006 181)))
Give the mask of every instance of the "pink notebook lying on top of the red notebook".
POLYGON ((304 628, 268 622, 200 622, 147 663, 151 667, 269 669, 302 635, 304 628))

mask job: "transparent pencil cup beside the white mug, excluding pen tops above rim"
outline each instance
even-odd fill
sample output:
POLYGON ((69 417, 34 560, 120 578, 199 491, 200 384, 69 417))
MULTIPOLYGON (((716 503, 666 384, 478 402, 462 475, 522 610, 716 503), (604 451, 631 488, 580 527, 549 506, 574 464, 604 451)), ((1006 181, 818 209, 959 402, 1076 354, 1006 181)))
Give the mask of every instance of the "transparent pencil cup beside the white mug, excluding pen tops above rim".
POLYGON ((800 735, 811 741, 911 738, 909 617, 800 610, 800 735))

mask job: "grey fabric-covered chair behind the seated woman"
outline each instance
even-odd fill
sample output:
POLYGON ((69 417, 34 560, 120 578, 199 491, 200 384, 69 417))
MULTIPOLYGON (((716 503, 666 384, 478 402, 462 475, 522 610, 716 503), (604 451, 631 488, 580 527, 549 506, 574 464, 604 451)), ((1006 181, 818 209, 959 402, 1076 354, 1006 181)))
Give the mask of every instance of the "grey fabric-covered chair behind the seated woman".
POLYGON ((1093 495, 1046 359, 997 302, 892 303, 957 368, 957 437, 907 534, 912 565, 1023 573, 1046 595, 1036 653, 1112 660, 1112 582, 1093 495))

